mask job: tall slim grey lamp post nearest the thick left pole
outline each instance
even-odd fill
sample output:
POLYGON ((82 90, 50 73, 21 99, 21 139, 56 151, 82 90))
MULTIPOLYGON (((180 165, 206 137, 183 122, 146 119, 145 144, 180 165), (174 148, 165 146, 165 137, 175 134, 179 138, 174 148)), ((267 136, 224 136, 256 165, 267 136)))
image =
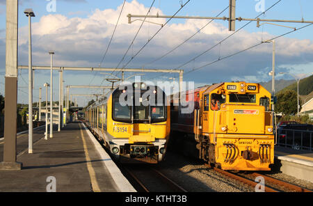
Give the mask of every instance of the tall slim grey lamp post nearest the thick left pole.
POLYGON ((31 8, 24 10, 26 17, 29 17, 29 153, 33 153, 33 65, 31 59, 31 17, 35 13, 31 8))

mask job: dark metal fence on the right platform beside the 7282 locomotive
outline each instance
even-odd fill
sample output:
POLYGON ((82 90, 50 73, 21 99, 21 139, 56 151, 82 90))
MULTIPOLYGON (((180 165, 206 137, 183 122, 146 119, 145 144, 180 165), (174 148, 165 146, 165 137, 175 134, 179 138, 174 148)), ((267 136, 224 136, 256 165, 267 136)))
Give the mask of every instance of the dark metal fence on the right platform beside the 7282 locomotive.
POLYGON ((278 129, 278 145, 312 152, 312 133, 309 130, 278 129))

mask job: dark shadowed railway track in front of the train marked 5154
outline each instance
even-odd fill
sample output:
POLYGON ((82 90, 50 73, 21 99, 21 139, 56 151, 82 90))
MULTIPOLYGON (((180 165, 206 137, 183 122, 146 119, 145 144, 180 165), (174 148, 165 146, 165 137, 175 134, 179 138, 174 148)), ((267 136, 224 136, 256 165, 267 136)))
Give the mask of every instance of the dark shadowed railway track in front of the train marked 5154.
POLYGON ((137 191, 187 192, 186 189, 180 187, 177 183, 166 177, 166 175, 151 166, 139 166, 137 167, 138 170, 134 166, 123 166, 123 169, 133 180, 132 182, 137 191))

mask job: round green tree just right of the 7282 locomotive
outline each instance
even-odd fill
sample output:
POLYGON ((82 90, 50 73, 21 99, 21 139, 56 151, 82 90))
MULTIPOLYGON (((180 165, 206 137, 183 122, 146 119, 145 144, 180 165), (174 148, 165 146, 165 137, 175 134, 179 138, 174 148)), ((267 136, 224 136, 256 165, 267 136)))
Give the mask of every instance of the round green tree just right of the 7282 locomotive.
MULTIPOLYGON (((299 105, 301 100, 299 99, 299 105)), ((301 109, 301 106, 300 106, 301 109)), ((299 111, 300 111, 299 109, 299 111)), ((277 104, 275 104, 275 112, 285 115, 297 113, 297 93, 294 90, 283 90, 277 95, 277 104)))

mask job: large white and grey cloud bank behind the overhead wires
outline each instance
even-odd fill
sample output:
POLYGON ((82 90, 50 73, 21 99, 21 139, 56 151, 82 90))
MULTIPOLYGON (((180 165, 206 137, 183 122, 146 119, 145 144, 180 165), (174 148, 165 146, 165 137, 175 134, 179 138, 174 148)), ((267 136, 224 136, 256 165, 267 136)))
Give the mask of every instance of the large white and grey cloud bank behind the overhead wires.
MULTIPOLYGON (((64 15, 42 16, 40 22, 33 23, 33 64, 49 64, 49 56, 46 53, 53 49, 56 51, 56 65, 97 66, 111 38, 121 8, 122 5, 116 9, 97 9, 86 18, 66 17, 64 15)), ((127 14, 146 14, 147 10, 147 7, 136 0, 125 3, 104 66, 114 67, 118 64, 141 25, 140 21, 128 24, 127 14)), ((157 8, 153 8, 150 14, 155 15, 157 13, 163 15, 162 11, 157 8)), ((147 20, 159 24, 166 22, 166 19, 151 18, 147 20)), ((204 19, 188 19, 184 23, 164 26, 160 33, 143 49, 141 54, 136 56, 127 66, 140 67, 145 65, 179 45, 205 24, 207 24, 207 20, 204 19)), ((128 61, 130 56, 135 54, 159 28, 160 26, 156 24, 145 23, 125 60, 128 61)), ((25 64, 27 62, 27 27, 25 26, 19 31, 20 62, 25 64)), ((182 47, 161 61, 149 65, 149 68, 175 68, 177 65, 181 65, 204 50, 216 45, 230 34, 230 31, 223 24, 212 22, 182 47)), ((216 60, 218 55, 223 57, 270 38, 273 38, 270 33, 249 33, 241 30, 220 46, 212 49, 208 54, 186 65, 185 68, 186 70, 197 68, 216 60)), ((220 78, 217 81, 226 79, 225 72, 228 72, 228 80, 243 78, 257 81, 258 78, 266 78, 263 73, 260 73, 260 70, 265 70, 271 65, 271 47, 271 44, 264 44, 257 47, 257 49, 252 49, 212 65, 210 68, 203 68, 199 70, 199 74, 214 70, 215 78, 220 78), (236 65, 236 68, 234 68, 234 65, 236 65)), ((298 64, 301 61, 298 59, 299 56, 307 56, 308 63, 310 63, 313 56, 313 42, 311 40, 279 38, 276 40, 276 55, 278 65, 282 64, 282 61, 284 64, 298 64)), ((200 82, 205 81, 203 75, 193 75, 193 77, 198 78, 200 82)), ((210 78, 208 81, 214 81, 212 80, 214 77, 210 78)))

